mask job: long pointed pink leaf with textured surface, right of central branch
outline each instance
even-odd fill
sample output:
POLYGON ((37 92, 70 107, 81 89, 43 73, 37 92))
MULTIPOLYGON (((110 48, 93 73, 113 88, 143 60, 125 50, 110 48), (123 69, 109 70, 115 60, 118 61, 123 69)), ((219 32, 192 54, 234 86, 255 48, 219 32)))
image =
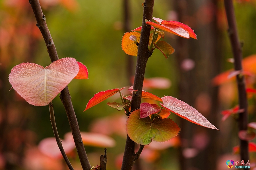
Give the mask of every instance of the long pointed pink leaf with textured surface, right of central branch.
MULTIPOLYGON (((196 109, 172 96, 162 97, 163 104, 160 103, 167 110, 177 114, 181 118, 188 120, 189 122, 204 126, 206 128, 217 129, 212 125, 201 113, 196 109)), ((217 129, 218 130, 218 129, 217 129)))

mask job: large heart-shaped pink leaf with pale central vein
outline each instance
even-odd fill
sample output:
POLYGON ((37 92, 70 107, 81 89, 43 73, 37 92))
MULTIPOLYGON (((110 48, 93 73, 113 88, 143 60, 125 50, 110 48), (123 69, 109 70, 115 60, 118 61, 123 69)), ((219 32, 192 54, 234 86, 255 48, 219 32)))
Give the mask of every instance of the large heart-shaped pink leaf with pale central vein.
POLYGON ((45 68, 35 63, 21 63, 11 70, 9 82, 29 104, 45 106, 61 92, 79 72, 74 58, 62 58, 45 68))

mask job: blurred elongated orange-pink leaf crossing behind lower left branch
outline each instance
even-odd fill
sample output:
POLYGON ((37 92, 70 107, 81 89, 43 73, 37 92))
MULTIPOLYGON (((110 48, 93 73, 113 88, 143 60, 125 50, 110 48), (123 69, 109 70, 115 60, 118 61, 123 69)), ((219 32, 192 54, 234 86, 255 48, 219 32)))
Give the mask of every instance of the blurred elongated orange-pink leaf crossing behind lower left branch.
MULTIPOLYGON (((112 137, 101 133, 81 132, 84 145, 96 147, 114 147, 115 140, 112 137)), ((65 134, 65 140, 74 141, 71 132, 65 134)))

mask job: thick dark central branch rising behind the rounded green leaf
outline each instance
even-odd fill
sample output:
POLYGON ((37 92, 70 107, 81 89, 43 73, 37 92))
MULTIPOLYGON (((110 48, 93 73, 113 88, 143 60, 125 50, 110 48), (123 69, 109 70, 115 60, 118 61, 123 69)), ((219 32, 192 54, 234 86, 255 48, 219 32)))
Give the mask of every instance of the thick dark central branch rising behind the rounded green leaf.
MULTIPOLYGON (((148 58, 151 56, 151 54, 148 52, 148 42, 151 26, 147 25, 145 20, 152 20, 154 0, 145 0, 145 2, 143 3, 143 7, 144 10, 142 19, 141 38, 138 46, 137 64, 133 84, 133 89, 138 91, 136 92, 136 94, 133 92, 131 111, 140 108, 146 63, 148 61, 148 58)), ((121 170, 131 170, 135 161, 134 148, 135 142, 133 142, 127 135, 121 170)))

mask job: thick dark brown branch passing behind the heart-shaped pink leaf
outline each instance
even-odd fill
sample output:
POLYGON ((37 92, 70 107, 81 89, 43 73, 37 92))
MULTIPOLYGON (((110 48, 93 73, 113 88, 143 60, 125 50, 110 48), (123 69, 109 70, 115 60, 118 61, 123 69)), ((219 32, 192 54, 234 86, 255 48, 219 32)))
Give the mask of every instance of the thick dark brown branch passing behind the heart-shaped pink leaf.
MULTIPOLYGON (((53 43, 53 39, 51 37, 50 31, 46 24, 46 17, 44 16, 40 3, 38 0, 30 0, 29 1, 32 7, 32 10, 34 12, 34 15, 36 17, 37 26, 40 29, 42 36, 44 38, 45 44, 47 46, 47 50, 49 53, 49 57, 51 59, 51 62, 58 60, 58 54, 55 48, 55 45, 53 43)), ((68 87, 66 86, 65 89, 61 91, 61 101, 64 105, 65 111, 67 113, 67 117, 69 120, 69 125, 71 128, 71 132, 75 141, 75 145, 77 148, 77 153, 82 165, 83 170, 88 170, 91 168, 91 165, 89 163, 89 160, 87 158, 82 137, 80 134, 77 118, 75 115, 75 111, 71 102, 71 97, 69 94, 68 87)))

